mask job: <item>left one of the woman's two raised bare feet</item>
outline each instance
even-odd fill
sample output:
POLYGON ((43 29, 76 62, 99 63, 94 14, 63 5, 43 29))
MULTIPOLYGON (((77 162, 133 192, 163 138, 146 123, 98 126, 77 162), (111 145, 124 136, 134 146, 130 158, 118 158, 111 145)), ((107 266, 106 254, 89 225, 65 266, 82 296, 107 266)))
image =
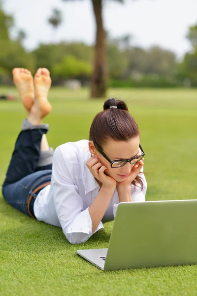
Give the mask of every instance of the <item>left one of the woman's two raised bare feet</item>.
POLYGON ((33 76, 29 70, 23 68, 14 68, 12 74, 23 106, 27 113, 29 113, 33 106, 34 98, 33 76))

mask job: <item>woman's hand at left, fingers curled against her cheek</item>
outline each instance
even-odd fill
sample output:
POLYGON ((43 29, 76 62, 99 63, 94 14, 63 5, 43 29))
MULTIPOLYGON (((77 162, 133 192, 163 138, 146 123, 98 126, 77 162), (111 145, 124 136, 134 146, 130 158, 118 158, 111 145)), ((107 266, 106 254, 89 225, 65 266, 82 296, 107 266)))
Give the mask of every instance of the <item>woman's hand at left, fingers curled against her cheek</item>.
POLYGON ((92 156, 90 159, 86 161, 86 165, 89 168, 91 174, 99 180, 103 186, 106 187, 116 187, 116 180, 112 177, 107 176, 104 171, 107 169, 104 166, 97 155, 92 156))

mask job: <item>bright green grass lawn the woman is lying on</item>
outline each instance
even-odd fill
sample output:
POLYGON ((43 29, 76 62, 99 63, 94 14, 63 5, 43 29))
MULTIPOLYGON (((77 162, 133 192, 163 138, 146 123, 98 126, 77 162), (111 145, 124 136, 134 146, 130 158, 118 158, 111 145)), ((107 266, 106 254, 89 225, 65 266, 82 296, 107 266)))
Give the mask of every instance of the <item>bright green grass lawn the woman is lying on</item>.
MULTIPOLYGON (((88 95, 86 89, 51 90, 53 112, 46 118, 51 146, 88 138, 103 104, 88 95)), ((109 96, 126 100, 140 127, 146 199, 195 199, 197 90, 111 89, 109 96)), ((0 184, 24 115, 19 101, 0 101, 0 184)), ((71 245, 60 228, 33 221, 0 195, 0 295, 197 295, 197 265, 104 272, 75 254, 106 248, 112 225, 105 224, 85 244, 71 245)))

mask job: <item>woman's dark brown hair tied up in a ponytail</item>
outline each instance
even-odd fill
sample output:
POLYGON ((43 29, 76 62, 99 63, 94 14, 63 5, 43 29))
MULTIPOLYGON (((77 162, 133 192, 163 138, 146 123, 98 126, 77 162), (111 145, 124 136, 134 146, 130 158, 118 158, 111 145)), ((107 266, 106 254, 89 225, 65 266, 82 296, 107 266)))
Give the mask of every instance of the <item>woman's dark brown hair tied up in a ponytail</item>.
MULTIPOLYGON (((103 111, 99 112, 90 127, 90 141, 95 141, 101 148, 108 140, 129 141, 139 136, 139 129, 134 118, 128 111, 127 104, 117 99, 108 99, 104 102, 103 111), (117 108, 110 108, 115 106, 117 108)), ((133 180, 134 186, 140 185, 143 189, 143 182, 139 175, 133 180)))

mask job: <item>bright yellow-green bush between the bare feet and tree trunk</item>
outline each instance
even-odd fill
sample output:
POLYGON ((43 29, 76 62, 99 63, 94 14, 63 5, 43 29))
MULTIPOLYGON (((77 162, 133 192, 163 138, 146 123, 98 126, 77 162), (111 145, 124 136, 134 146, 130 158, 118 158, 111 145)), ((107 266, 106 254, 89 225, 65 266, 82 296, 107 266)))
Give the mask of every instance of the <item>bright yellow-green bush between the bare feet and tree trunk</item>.
POLYGON ((91 74, 92 66, 72 55, 64 56, 63 60, 52 69, 52 75, 59 78, 90 77, 91 74))

